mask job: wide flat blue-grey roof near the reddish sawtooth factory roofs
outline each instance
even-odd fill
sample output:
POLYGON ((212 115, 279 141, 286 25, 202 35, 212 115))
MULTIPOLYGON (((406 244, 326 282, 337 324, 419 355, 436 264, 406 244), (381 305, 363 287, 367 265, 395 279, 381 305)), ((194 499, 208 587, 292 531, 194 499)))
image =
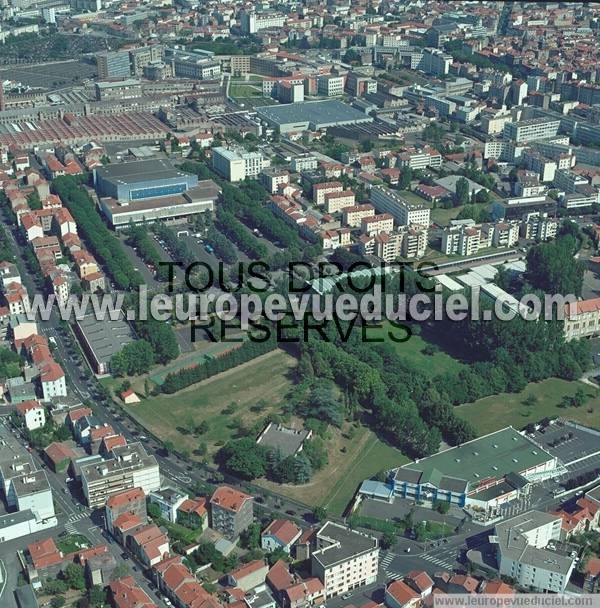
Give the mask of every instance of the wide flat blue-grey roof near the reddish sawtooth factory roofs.
POLYGON ((341 101, 308 101, 278 106, 260 106, 257 114, 277 125, 308 122, 311 125, 335 125, 353 122, 373 122, 373 118, 341 101))

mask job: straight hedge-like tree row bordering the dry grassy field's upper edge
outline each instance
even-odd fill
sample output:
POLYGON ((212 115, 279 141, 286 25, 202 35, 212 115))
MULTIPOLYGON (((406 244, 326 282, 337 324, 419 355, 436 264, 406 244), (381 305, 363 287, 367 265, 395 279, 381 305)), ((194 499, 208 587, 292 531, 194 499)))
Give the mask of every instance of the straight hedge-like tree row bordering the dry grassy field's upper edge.
POLYGON ((275 348, 277 348, 277 340, 273 332, 262 342, 249 339, 239 348, 208 359, 205 363, 167 374, 165 381, 161 385, 161 390, 163 393, 176 393, 192 384, 206 380, 211 376, 264 355, 275 348))

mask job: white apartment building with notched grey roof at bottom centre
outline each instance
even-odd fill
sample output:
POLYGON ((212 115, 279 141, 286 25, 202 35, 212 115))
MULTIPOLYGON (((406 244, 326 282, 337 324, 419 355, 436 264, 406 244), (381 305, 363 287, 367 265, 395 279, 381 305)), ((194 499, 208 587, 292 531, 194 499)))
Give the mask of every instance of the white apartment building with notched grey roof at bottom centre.
POLYGON ((340 524, 326 522, 316 533, 311 574, 321 580, 325 598, 347 593, 377 580, 377 539, 340 524))

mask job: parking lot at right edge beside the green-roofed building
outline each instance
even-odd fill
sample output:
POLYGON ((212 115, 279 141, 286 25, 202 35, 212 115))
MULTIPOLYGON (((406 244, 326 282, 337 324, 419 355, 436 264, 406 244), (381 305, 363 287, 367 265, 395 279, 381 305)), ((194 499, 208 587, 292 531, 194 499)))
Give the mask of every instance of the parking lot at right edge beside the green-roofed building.
POLYGON ((536 431, 532 439, 565 465, 586 458, 587 467, 590 457, 600 454, 600 434, 560 421, 536 431))

